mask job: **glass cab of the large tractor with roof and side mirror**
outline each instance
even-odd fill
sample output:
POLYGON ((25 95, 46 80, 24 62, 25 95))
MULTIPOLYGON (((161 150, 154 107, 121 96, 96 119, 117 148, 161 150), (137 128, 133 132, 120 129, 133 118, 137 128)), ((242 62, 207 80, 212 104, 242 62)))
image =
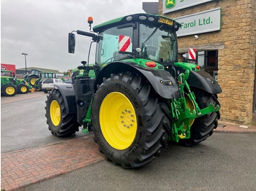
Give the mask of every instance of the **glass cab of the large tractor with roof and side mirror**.
MULTIPOLYGON (((132 61, 138 66, 163 69, 159 64, 170 66, 178 61, 176 31, 179 27, 179 23, 168 17, 141 13, 95 26, 93 31, 97 34, 77 33, 91 36, 97 42, 95 66, 99 69, 113 62, 131 62, 129 58, 140 58, 132 61)), ((69 52, 75 52, 75 34, 69 34, 69 52)))

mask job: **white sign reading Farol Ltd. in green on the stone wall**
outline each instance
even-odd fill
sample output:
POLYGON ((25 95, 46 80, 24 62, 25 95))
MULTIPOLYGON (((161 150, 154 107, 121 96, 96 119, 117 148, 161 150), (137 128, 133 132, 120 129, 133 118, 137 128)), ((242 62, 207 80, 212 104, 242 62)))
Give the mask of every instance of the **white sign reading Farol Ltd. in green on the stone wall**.
POLYGON ((185 15, 174 18, 181 23, 177 36, 202 34, 211 31, 219 31, 221 28, 221 9, 210 9, 204 12, 197 12, 192 15, 185 15))

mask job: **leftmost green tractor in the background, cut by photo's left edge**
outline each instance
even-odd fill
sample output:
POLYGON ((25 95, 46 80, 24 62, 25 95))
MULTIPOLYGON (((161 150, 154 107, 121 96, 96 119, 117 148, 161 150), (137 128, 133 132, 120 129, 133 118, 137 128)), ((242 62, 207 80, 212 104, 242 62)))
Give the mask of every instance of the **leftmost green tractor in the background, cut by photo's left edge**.
POLYGON ((24 79, 15 79, 13 71, 1 70, 1 94, 14 96, 16 93, 28 93, 29 85, 24 79))

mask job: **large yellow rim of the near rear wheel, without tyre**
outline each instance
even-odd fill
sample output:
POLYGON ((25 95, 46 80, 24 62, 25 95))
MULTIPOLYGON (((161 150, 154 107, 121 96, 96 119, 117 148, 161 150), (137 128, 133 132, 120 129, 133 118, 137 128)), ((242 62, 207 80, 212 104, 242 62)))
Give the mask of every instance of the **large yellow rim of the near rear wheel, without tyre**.
POLYGON ((115 149, 127 149, 135 140, 138 128, 135 109, 122 93, 109 93, 104 98, 99 124, 105 140, 115 149))

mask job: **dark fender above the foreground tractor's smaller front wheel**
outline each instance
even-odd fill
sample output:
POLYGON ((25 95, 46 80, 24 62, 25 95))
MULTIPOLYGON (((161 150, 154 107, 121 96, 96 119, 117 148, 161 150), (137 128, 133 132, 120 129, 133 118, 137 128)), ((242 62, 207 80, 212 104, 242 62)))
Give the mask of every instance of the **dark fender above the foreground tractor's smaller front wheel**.
POLYGON ((77 106, 75 101, 75 90, 71 84, 58 84, 54 85, 56 89, 61 92, 66 106, 67 114, 75 114, 77 106))

